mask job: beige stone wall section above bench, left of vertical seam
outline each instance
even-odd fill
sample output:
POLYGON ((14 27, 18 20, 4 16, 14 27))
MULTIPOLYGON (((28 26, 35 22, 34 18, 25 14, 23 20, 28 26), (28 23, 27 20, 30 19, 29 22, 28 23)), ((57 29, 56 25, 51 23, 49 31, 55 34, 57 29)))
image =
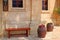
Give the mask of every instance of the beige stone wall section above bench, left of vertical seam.
POLYGON ((3 12, 3 21, 8 27, 29 27, 30 23, 30 14, 31 14, 31 4, 30 0, 23 0, 25 8, 11 8, 12 0, 9 0, 9 11, 3 12))

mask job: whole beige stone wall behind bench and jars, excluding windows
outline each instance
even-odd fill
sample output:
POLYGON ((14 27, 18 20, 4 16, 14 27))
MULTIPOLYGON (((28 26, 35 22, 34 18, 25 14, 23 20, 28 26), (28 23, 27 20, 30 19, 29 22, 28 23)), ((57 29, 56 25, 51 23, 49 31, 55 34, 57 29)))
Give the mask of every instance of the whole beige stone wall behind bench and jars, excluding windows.
POLYGON ((4 28, 29 27, 30 24, 31 34, 35 34, 41 22, 52 22, 51 15, 55 0, 54 2, 49 0, 49 10, 47 12, 42 12, 42 0, 25 0, 24 9, 12 8, 11 1, 12 0, 9 0, 9 11, 2 13, 4 28))

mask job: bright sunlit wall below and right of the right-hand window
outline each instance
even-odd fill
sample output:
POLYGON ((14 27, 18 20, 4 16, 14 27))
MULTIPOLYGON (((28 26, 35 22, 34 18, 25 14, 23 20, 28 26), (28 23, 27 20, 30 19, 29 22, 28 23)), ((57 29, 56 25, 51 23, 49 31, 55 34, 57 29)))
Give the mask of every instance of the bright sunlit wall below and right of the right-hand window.
POLYGON ((48 0, 48 11, 42 11, 41 14, 41 22, 45 22, 45 24, 52 22, 52 14, 53 14, 53 9, 55 6, 55 1, 56 0, 48 0), (54 1, 54 2, 53 2, 54 1))

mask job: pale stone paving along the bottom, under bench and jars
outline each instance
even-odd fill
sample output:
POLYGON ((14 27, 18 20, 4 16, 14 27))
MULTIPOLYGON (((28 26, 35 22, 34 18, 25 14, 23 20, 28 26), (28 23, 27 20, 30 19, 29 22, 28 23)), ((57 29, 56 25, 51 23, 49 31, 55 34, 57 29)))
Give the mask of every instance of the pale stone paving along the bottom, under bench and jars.
POLYGON ((29 37, 11 37, 9 38, 0 38, 0 40, 60 40, 60 27, 54 27, 52 32, 47 32, 45 38, 38 38, 37 36, 30 35, 29 37))

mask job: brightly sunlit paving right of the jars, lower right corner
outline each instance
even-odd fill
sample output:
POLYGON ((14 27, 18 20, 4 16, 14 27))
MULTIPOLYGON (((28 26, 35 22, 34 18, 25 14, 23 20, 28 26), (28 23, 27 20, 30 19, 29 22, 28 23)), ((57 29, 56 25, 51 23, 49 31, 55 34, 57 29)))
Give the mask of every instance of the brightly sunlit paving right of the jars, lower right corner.
POLYGON ((47 32, 46 37, 44 38, 46 40, 60 40, 60 27, 54 27, 54 30, 52 32, 47 32))

